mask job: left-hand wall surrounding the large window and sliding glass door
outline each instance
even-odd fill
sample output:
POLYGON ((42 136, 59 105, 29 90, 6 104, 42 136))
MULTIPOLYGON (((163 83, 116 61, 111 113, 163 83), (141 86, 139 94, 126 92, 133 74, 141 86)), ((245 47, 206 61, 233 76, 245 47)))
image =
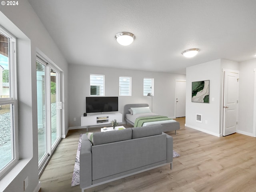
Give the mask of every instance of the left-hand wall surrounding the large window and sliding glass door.
MULTIPOLYGON (((20 154, 18 164, 0 180, 0 191, 23 192, 23 181, 28 176, 26 191, 33 192, 38 190, 36 51, 58 65, 63 74, 68 64, 27 0, 19 0, 18 6, 0 6, 0 18, 0 25, 17 37, 20 154)), ((64 108, 68 111, 68 76, 63 76, 64 108)), ((67 112, 63 115, 68 119, 67 112)))

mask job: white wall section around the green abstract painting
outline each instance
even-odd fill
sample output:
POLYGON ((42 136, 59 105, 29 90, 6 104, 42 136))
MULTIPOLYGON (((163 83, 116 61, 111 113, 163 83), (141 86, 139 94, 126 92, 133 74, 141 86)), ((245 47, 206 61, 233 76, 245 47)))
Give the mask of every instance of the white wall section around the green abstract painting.
POLYGON ((221 60, 214 60, 186 68, 186 126, 220 136, 221 60), (192 82, 210 80, 210 103, 192 102, 192 82), (213 101, 214 99, 214 101, 213 101), (202 123, 196 122, 202 115, 202 123))

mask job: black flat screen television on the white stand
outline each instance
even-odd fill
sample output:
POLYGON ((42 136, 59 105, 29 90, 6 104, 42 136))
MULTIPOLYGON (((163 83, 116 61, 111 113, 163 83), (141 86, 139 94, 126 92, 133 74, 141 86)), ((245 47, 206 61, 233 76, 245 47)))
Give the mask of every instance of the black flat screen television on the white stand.
POLYGON ((86 97, 86 113, 118 111, 118 97, 86 97))

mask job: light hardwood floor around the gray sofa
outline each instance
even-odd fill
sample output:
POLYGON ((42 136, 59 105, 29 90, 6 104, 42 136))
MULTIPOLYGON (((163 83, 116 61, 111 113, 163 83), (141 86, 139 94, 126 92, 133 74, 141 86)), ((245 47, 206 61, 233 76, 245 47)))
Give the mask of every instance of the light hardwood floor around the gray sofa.
MULTIPOLYGON (((162 166, 85 190, 85 192, 256 192, 256 138, 242 134, 218 138, 184 126, 175 135, 173 169, 162 166)), ((89 129, 99 131, 99 128, 89 129)), ((46 166, 41 192, 80 192, 71 187, 78 137, 70 130, 46 166)))

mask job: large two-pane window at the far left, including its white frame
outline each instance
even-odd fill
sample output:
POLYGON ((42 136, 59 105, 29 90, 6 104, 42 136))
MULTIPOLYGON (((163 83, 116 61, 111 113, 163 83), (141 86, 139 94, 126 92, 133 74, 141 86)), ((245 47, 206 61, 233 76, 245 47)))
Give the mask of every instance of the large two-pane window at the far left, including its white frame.
POLYGON ((0 28, 0 176, 18 161, 16 39, 0 28))

